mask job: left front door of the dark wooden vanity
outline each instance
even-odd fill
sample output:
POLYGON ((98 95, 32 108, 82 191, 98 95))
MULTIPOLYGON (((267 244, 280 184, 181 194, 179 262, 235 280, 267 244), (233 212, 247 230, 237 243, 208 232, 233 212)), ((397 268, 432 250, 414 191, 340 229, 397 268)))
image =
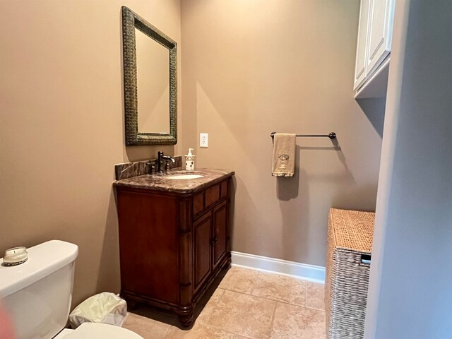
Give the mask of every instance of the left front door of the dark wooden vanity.
POLYGON ((194 223, 195 290, 210 274, 210 228, 212 214, 207 213, 194 223))

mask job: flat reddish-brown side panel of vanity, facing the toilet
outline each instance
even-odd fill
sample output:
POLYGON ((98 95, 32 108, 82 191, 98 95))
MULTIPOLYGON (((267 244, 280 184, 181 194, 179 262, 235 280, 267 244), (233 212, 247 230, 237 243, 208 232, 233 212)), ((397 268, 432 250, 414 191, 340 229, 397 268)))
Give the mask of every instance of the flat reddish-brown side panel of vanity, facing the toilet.
POLYGON ((177 198, 118 191, 121 290, 176 303, 177 198))

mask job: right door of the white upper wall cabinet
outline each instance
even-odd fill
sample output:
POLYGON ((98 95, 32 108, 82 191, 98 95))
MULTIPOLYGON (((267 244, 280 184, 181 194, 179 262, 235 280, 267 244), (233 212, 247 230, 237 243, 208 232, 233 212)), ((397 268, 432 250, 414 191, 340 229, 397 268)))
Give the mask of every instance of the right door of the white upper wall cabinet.
POLYGON ((373 72, 391 52, 393 0, 371 0, 366 75, 373 72))

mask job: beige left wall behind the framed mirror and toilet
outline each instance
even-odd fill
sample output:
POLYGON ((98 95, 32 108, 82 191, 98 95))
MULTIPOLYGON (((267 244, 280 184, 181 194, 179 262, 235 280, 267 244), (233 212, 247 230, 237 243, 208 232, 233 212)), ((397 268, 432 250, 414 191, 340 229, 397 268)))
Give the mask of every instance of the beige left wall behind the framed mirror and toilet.
POLYGON ((0 1, 0 251, 78 244, 74 302, 119 291, 114 164, 181 153, 124 146, 121 5, 180 42, 179 0, 0 1))

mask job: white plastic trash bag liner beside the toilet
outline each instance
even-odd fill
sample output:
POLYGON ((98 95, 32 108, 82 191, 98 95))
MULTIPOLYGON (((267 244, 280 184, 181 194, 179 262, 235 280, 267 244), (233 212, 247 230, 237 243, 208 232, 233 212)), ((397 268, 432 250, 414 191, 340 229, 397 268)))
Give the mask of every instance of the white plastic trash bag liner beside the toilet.
POLYGON ((82 323, 110 323, 122 326, 127 316, 127 303, 119 295, 102 292, 89 297, 69 314, 69 323, 77 328, 82 323))

